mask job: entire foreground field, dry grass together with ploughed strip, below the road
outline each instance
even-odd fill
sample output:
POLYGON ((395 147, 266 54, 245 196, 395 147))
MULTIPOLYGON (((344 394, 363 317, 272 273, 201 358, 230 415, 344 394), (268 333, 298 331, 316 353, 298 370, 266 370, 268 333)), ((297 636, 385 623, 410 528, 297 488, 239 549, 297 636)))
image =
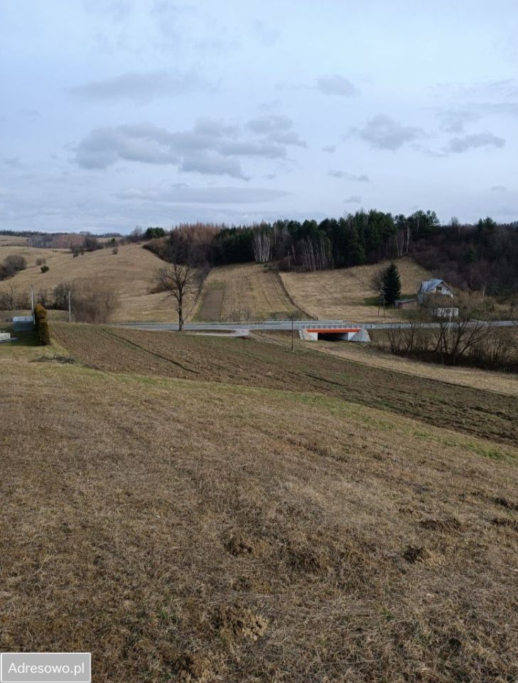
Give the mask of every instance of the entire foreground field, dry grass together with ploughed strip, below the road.
POLYGON ((516 679, 516 398, 53 332, 0 346, 3 650, 91 651, 102 683, 516 679))

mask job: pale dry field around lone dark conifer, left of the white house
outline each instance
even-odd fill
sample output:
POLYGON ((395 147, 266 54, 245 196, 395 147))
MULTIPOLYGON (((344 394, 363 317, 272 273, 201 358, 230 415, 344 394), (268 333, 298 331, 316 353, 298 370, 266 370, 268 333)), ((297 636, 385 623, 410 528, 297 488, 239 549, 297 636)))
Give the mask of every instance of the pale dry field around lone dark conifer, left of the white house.
MULTIPOLYGON (((281 272, 280 275, 293 301, 313 317, 351 322, 389 322, 400 313, 378 312, 376 305, 365 302, 375 297, 370 285, 372 275, 387 265, 389 261, 340 270, 281 272)), ((398 259, 397 267, 403 295, 415 295, 421 280, 431 277, 428 271, 409 258, 398 259)))

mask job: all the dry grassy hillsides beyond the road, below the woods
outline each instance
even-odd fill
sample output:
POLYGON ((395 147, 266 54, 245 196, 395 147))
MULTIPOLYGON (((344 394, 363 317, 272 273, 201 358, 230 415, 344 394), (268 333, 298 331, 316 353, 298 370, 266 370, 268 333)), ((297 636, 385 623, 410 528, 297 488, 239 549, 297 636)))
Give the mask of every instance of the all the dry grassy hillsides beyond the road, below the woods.
MULTIPOLYGON (((102 249, 77 258, 65 250, 27 246, 0 246, 0 260, 21 254, 28 268, 11 280, 0 282, 28 290, 34 285, 53 288, 59 282, 95 278, 119 290, 121 305, 114 321, 176 322, 171 297, 151 294, 157 268, 163 261, 141 245, 121 245, 119 253, 102 249), (46 258, 49 272, 41 273, 37 258, 46 258)), ((387 262, 388 263, 388 262, 387 262)), ((287 317, 345 319, 352 322, 377 322, 400 316, 399 312, 379 312, 370 285, 374 272, 387 265, 355 266, 315 272, 276 272, 256 263, 212 268, 198 300, 190 300, 186 319, 195 321, 261 320, 287 317)), ((397 262, 402 290, 415 294, 421 280, 430 274, 411 259, 397 262)))

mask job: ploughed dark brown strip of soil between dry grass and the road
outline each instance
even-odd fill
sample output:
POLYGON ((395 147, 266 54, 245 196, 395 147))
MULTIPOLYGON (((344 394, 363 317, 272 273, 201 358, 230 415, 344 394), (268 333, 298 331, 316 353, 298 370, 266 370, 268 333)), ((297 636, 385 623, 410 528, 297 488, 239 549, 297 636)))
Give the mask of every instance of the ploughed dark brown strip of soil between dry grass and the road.
POLYGON ((247 339, 174 332, 53 326, 70 353, 91 366, 266 388, 323 393, 495 440, 518 443, 518 398, 371 368, 316 351, 247 339))

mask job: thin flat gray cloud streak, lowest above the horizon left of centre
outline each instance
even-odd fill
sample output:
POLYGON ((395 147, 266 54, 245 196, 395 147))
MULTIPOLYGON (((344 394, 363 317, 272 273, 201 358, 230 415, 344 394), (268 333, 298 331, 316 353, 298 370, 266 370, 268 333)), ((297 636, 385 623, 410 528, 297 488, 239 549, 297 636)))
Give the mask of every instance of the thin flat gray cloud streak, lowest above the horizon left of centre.
POLYGON ((183 183, 166 189, 126 189, 117 198, 170 203, 244 204, 271 201, 287 196, 283 190, 260 187, 192 187, 183 183))

